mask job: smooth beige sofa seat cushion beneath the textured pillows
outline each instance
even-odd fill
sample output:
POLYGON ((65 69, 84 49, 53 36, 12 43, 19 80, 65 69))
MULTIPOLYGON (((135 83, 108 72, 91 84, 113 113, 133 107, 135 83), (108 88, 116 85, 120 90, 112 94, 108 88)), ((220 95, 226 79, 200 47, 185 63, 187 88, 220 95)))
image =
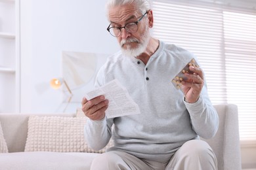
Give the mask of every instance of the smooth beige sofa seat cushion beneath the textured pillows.
POLYGON ((0 154, 1 170, 89 170, 98 154, 83 152, 12 152, 0 154))

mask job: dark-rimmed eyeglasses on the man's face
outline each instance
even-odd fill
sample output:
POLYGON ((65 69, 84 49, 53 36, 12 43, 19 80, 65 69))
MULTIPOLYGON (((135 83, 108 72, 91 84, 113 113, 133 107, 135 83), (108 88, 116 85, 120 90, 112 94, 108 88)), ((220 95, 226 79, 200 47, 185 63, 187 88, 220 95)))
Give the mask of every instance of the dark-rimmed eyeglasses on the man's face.
POLYGON ((142 18, 147 14, 148 12, 145 12, 145 14, 143 14, 139 20, 137 20, 137 22, 130 22, 128 24, 125 24, 125 26, 123 27, 110 27, 110 25, 108 25, 108 32, 110 32, 111 35, 113 35, 114 37, 119 37, 121 35, 121 29, 124 28, 127 32, 129 33, 136 33, 138 31, 138 23, 142 20, 142 18))

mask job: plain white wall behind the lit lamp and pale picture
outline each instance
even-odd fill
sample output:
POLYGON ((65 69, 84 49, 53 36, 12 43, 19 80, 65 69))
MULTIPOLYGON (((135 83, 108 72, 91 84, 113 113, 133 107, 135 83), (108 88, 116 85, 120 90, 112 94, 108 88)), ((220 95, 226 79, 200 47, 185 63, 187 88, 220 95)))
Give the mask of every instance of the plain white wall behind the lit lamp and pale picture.
MULTIPOLYGON (((106 31, 104 0, 20 1, 20 112, 62 112, 63 93, 49 81, 62 76, 62 51, 112 54, 117 41, 106 31)), ((75 112, 77 103, 69 107, 75 112)))

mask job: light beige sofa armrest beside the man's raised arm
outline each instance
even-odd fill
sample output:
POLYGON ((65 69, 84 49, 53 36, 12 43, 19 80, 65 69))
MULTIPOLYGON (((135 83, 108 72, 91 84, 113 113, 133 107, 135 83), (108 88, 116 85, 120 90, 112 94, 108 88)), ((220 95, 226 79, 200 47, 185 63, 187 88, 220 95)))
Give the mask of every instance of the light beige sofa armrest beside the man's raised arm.
POLYGON ((242 169, 238 107, 232 104, 214 105, 219 115, 219 129, 212 139, 203 139, 215 152, 218 169, 242 169))

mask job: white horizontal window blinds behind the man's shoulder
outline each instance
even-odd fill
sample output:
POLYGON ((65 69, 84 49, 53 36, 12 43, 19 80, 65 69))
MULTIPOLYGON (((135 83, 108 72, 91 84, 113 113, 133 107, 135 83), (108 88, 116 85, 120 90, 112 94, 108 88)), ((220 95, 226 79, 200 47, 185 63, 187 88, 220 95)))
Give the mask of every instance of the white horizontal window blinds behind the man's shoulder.
POLYGON ((196 54, 213 104, 238 105, 240 140, 256 143, 256 12, 153 1, 153 36, 196 54))

